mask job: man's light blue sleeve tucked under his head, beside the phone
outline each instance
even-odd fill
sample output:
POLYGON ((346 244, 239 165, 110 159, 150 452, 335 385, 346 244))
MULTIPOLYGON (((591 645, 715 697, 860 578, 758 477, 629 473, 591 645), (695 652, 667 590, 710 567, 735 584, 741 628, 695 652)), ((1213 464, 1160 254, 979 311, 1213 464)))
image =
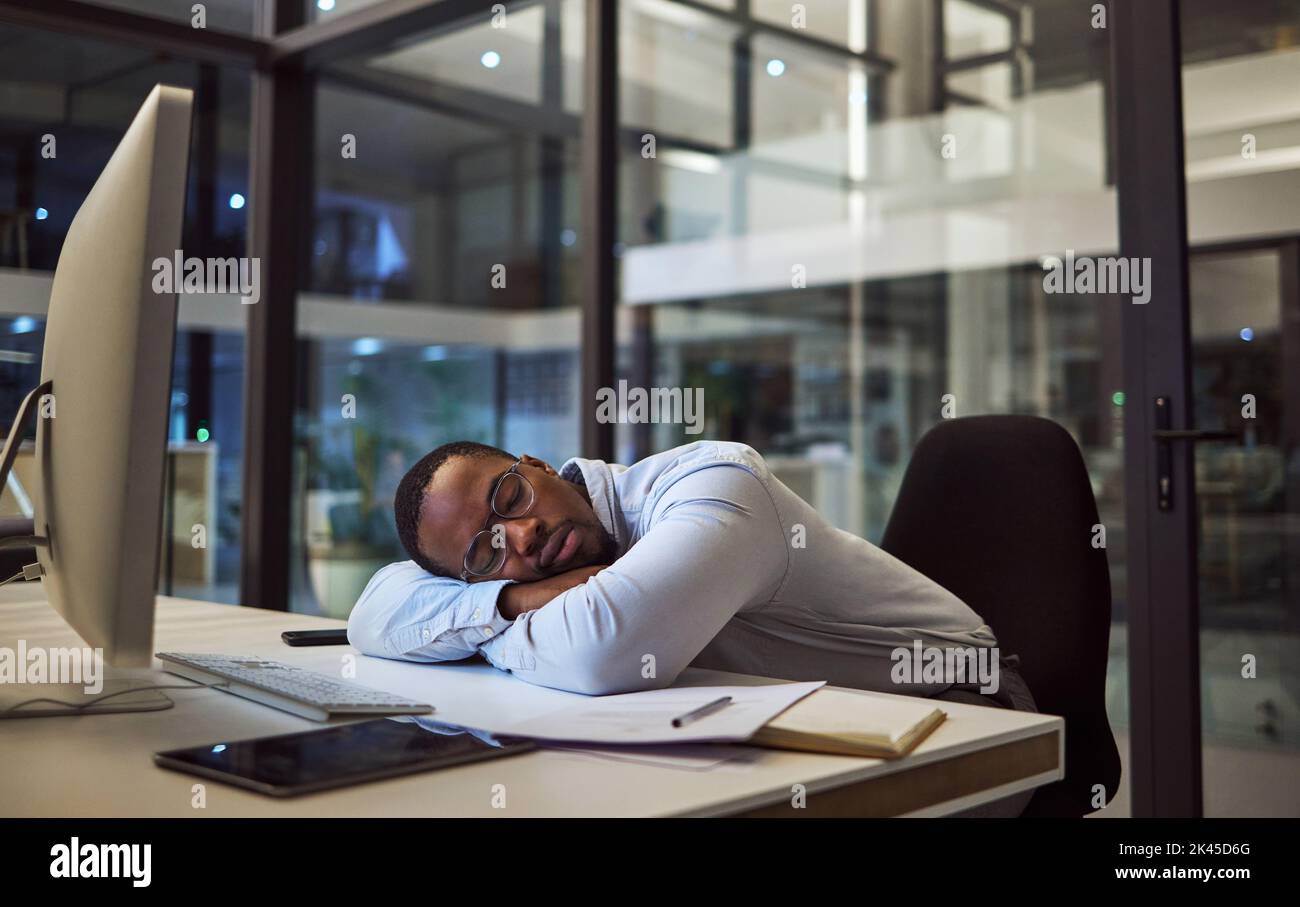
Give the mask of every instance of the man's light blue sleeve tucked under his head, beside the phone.
POLYGON ((365 655, 410 661, 469 658, 510 621, 497 609, 508 580, 465 583, 412 560, 376 573, 347 620, 347 641, 365 655))

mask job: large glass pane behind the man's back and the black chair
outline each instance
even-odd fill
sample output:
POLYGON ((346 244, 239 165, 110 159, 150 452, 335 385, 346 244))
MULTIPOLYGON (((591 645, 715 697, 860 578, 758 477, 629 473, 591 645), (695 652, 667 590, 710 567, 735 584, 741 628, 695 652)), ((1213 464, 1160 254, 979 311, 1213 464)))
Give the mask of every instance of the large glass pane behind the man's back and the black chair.
POLYGON ((1083 3, 759 5, 620 6, 623 125, 656 139, 620 157, 620 377, 705 407, 619 456, 742 441, 879 542, 941 418, 1057 421, 1106 526, 1123 746, 1122 303, 1043 269, 1118 249, 1109 32, 1083 3))

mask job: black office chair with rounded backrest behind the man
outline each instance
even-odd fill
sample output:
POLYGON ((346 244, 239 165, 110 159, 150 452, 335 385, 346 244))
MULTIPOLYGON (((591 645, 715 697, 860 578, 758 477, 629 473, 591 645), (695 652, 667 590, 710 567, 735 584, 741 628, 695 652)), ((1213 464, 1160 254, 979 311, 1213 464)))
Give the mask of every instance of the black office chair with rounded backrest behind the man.
POLYGON ((881 547, 993 628, 1039 711, 1065 717, 1062 781, 1024 816, 1083 816, 1119 787, 1106 720, 1110 574, 1092 544, 1088 470, 1070 434, 1035 416, 942 421, 913 452, 881 547))

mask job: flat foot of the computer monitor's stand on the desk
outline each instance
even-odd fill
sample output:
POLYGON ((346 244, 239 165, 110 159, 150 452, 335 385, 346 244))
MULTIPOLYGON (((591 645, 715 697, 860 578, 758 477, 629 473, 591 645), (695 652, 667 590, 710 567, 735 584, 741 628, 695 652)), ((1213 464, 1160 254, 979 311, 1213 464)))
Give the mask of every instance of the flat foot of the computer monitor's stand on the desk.
POLYGON ((55 719, 118 712, 157 712, 173 703, 160 690, 138 690, 142 686, 172 686, 178 678, 144 669, 103 668, 103 689, 86 693, 84 683, 0 683, 0 719, 55 719), (126 690, 135 690, 126 693, 126 690), (108 694, 108 699, 100 699, 108 694), (70 706, 62 706, 55 699, 70 706), (39 702, 38 702, 39 700, 39 702), (14 708, 20 706, 20 708, 14 708))

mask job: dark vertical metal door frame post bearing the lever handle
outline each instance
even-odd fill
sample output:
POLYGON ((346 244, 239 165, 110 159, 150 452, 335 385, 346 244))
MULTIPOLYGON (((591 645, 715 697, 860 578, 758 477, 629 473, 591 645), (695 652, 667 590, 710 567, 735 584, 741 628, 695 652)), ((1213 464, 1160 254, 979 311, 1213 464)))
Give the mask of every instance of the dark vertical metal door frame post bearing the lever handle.
POLYGON ((1175 505, 1156 505, 1154 398, 1191 429, 1191 331, 1176 0, 1110 5, 1119 252, 1150 261, 1123 305, 1132 815, 1201 813, 1200 634, 1192 444, 1175 444, 1175 505))

